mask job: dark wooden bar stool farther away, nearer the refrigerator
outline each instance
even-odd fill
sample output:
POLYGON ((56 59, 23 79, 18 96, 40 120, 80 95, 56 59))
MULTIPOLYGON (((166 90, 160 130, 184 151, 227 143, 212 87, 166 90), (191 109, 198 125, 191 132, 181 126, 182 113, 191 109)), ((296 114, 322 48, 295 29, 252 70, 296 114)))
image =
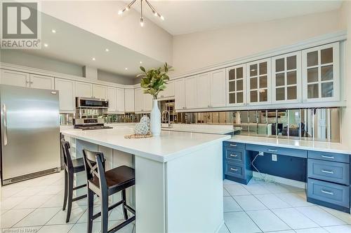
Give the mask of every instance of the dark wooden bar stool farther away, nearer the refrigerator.
POLYGON ((74 174, 84 171, 84 159, 79 158, 77 160, 72 160, 71 153, 69 152, 69 142, 65 139, 61 139, 61 148, 63 153, 64 169, 65 169, 65 196, 63 198, 62 211, 66 209, 67 205, 67 216, 66 223, 69 222, 72 211, 72 202, 78 201, 80 199, 86 198, 87 195, 81 195, 79 197, 73 198, 73 190, 78 190, 79 188, 86 187, 86 184, 73 187, 73 176, 74 174), (67 204, 68 201, 68 204, 67 204))

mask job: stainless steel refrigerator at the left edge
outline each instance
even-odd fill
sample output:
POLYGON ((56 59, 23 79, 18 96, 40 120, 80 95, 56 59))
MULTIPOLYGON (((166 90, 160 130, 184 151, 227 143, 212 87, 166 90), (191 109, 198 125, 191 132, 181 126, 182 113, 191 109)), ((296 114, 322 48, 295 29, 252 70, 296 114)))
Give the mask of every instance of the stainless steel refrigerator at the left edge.
POLYGON ((0 85, 1 184, 60 171, 58 92, 0 85))

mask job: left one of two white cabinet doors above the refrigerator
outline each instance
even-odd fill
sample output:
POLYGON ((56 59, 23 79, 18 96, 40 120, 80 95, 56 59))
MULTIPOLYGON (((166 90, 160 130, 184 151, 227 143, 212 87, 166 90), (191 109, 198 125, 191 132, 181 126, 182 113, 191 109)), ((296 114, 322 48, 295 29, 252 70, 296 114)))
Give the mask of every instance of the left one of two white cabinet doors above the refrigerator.
POLYGON ((18 87, 29 87, 29 73, 1 69, 0 83, 18 87))

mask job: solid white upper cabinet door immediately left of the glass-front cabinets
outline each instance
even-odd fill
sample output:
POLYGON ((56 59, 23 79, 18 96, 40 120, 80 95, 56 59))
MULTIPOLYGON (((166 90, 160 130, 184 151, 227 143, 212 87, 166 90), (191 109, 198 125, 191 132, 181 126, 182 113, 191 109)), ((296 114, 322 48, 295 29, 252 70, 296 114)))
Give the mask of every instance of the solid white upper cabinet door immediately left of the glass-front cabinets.
POLYGON ((225 69, 212 71, 210 76, 211 107, 225 106, 225 69))

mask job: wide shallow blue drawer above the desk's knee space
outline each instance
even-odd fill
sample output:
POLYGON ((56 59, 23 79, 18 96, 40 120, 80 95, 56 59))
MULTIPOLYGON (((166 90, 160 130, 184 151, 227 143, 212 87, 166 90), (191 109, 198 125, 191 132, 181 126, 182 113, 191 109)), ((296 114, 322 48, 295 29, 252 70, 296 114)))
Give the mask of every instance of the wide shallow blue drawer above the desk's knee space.
POLYGON ((246 144, 246 150, 263 151, 264 153, 307 158, 307 150, 282 148, 277 146, 261 146, 254 144, 246 144))

